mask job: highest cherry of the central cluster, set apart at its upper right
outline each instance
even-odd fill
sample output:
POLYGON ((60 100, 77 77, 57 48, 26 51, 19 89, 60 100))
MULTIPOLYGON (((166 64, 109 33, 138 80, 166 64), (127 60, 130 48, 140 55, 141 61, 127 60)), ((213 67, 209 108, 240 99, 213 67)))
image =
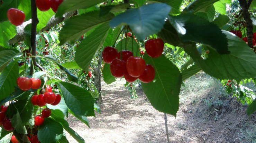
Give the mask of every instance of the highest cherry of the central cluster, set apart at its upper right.
POLYGON ((162 39, 149 39, 145 43, 145 49, 150 57, 156 58, 162 55, 164 50, 164 41, 162 39))

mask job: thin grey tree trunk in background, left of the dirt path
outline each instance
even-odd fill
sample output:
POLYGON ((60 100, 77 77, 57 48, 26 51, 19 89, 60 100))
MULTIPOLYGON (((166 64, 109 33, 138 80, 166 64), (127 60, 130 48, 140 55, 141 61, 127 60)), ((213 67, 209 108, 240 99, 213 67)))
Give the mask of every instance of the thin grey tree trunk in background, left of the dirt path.
POLYGON ((94 68, 94 85, 96 86, 96 88, 98 89, 99 92, 99 97, 97 102, 100 104, 102 103, 102 97, 101 97, 101 61, 102 61, 102 53, 100 54, 99 57, 99 61, 98 61, 98 66, 96 68, 94 68))

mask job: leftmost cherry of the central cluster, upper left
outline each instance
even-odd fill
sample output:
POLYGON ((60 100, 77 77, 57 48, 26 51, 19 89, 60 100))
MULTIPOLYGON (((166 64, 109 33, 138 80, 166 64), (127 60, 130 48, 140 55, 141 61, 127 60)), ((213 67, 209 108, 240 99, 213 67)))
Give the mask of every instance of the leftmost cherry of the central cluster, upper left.
POLYGON ((113 47, 106 46, 102 51, 102 58, 106 63, 111 63, 117 57, 117 50, 113 47))

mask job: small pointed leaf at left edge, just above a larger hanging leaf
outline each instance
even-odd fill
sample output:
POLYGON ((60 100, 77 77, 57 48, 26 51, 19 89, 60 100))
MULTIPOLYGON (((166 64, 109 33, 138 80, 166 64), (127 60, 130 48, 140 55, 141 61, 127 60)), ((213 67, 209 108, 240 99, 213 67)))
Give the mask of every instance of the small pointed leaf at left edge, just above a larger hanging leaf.
POLYGON ((0 72, 6 67, 7 64, 17 55, 19 55, 15 50, 1 48, 0 49, 0 72))

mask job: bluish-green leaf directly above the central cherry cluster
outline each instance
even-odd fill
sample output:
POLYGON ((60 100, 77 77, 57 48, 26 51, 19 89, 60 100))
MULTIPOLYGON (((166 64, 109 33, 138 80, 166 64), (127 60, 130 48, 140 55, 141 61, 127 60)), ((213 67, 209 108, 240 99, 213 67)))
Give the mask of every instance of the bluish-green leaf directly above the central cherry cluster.
POLYGON ((146 36, 161 31, 170 10, 171 7, 165 3, 147 4, 117 15, 109 24, 112 28, 120 24, 129 25, 138 40, 142 41, 146 36))

